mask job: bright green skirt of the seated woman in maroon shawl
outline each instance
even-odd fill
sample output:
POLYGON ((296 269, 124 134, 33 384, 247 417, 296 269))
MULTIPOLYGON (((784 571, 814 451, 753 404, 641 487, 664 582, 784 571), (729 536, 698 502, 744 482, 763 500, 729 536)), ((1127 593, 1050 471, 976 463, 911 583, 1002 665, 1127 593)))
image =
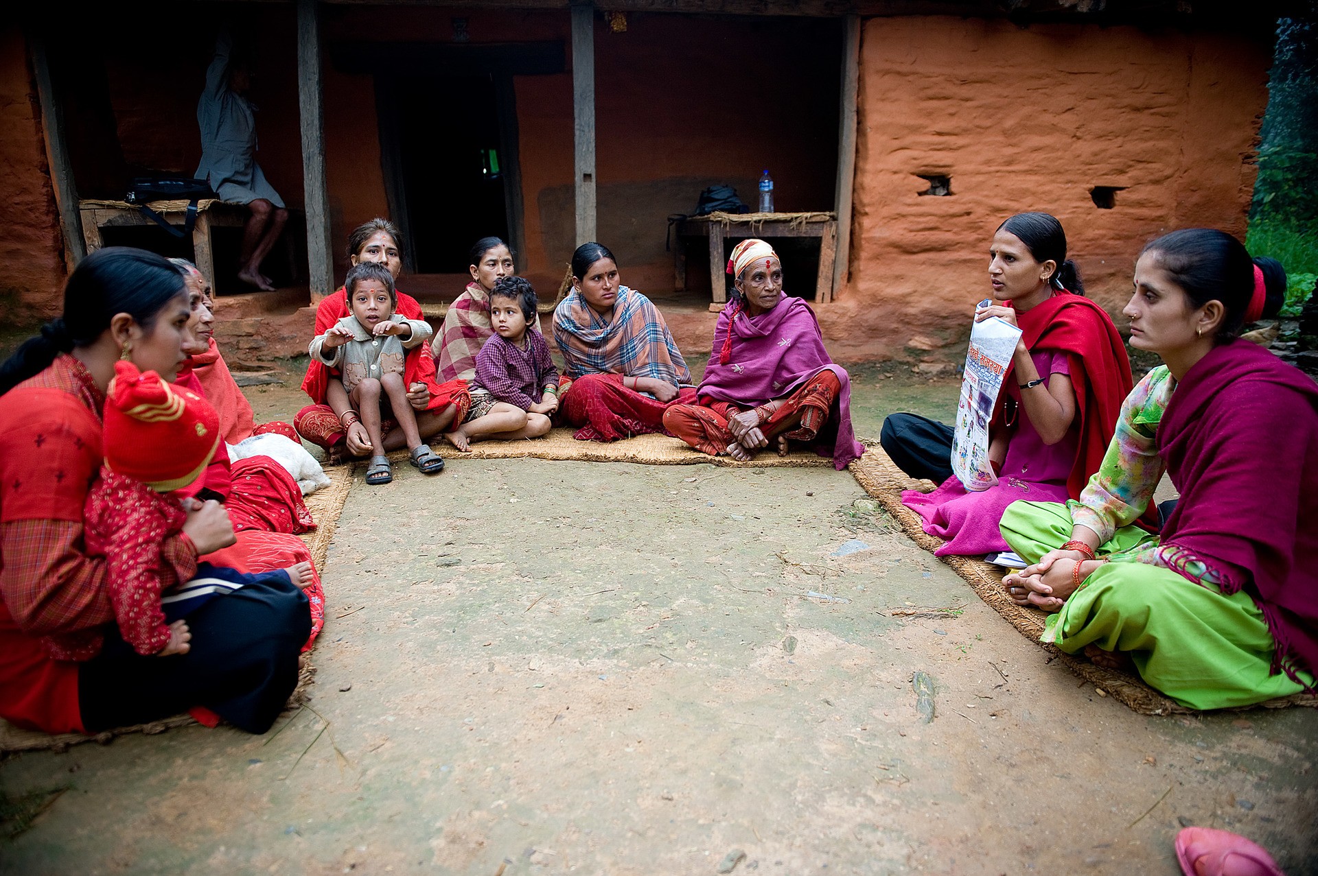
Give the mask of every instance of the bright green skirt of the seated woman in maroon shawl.
MULTIPOLYGON (((1070 511, 1056 502, 1014 502, 1002 518, 1002 536, 1027 562, 1061 548, 1070 534, 1070 511)), ((1227 595, 1170 569, 1123 561, 1155 540, 1133 526, 1118 530, 1098 549, 1111 562, 1048 618, 1043 640, 1068 653, 1090 644, 1128 652, 1147 684, 1190 709, 1248 706, 1304 690, 1272 673, 1276 643, 1247 593, 1227 595)), ((1313 676, 1300 677, 1313 686, 1313 676)))

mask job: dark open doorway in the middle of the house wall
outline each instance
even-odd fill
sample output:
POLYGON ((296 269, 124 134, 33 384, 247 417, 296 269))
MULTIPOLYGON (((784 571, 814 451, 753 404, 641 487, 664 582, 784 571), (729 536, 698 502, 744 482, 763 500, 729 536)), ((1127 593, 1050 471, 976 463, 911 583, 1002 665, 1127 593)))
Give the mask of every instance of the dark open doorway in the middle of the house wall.
POLYGON ((419 274, 461 274, 477 237, 509 240, 507 153, 492 75, 398 83, 398 179, 419 274))

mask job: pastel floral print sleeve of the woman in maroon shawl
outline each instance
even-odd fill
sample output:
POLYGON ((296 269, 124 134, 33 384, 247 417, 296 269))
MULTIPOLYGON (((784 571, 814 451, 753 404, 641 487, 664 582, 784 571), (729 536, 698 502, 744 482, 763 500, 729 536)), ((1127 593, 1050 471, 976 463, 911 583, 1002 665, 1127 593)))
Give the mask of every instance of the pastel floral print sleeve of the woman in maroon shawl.
POLYGON ((1106 543, 1123 526, 1144 514, 1153 501, 1153 490, 1162 477, 1162 457, 1155 439, 1162 411, 1172 399, 1176 379, 1166 366, 1148 373, 1122 403, 1103 464, 1079 494, 1079 501, 1066 503, 1072 522, 1098 534, 1106 543))

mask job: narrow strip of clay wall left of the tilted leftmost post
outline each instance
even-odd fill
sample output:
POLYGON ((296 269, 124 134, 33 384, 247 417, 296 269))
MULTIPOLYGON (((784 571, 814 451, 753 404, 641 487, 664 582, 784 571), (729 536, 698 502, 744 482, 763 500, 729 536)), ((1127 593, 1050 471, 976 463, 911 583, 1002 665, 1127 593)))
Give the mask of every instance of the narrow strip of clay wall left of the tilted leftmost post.
POLYGON ((0 303, 11 323, 59 314, 65 279, 41 109, 17 28, 0 32, 0 303))

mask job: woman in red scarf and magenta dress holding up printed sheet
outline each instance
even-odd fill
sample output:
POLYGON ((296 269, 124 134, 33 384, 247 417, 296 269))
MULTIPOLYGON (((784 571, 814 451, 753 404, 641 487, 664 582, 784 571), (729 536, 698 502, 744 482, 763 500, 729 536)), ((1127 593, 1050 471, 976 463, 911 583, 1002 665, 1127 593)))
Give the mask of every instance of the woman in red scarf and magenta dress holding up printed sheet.
POLYGON ((940 483, 908 490, 902 502, 924 531, 946 540, 937 556, 1006 551, 998 522, 1019 499, 1077 498, 1112 437, 1131 365, 1107 312, 1083 296, 1066 234, 1048 213, 1017 213, 998 227, 988 283, 1000 303, 981 304, 1021 329, 990 425, 988 458, 998 483, 969 493, 952 477, 952 427, 913 414, 883 423, 880 443, 912 477, 940 483))

